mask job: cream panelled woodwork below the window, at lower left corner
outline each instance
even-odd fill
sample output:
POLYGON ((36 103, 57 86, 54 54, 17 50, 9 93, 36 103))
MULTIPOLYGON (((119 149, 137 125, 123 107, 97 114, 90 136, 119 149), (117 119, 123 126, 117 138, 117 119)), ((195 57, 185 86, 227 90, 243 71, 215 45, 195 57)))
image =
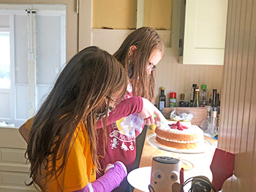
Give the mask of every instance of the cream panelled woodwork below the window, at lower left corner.
POLYGON ((31 181, 25 152, 26 142, 18 128, 0 128, 0 192, 37 191, 25 185, 31 181))

